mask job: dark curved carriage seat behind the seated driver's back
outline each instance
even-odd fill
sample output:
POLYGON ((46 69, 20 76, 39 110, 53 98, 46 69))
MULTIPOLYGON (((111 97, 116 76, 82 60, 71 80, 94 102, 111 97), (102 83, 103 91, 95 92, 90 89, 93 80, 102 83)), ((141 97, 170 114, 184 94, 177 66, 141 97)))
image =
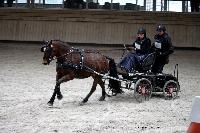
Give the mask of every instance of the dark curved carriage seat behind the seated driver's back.
POLYGON ((150 53, 147 57, 144 58, 141 62, 139 62, 138 66, 136 67, 136 72, 148 72, 152 69, 152 66, 156 59, 156 53, 150 53))

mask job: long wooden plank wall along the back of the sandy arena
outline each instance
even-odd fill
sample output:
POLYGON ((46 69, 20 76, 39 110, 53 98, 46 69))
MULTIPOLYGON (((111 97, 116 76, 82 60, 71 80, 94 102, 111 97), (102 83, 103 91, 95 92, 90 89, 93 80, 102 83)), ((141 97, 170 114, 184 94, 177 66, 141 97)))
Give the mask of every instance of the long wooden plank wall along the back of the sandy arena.
POLYGON ((158 23, 176 47, 200 48, 200 14, 70 9, 0 9, 0 40, 131 44, 139 27, 153 40, 158 23))

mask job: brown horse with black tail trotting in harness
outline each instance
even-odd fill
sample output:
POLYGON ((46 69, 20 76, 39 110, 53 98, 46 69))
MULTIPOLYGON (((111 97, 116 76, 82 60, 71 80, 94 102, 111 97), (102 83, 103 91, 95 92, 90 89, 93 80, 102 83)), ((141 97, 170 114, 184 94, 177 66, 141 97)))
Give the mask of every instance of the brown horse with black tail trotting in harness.
MULTIPOLYGON (((62 99, 63 96, 60 92, 60 84, 63 82, 73 80, 74 78, 83 79, 91 76, 94 81, 90 92, 82 101, 82 103, 85 103, 96 90, 97 84, 102 88, 102 96, 99 100, 105 100, 106 92, 102 76, 95 74, 94 71, 101 74, 109 72, 110 76, 117 77, 114 60, 100 54, 98 51, 75 49, 66 42, 51 40, 42 46, 41 52, 44 52, 44 65, 48 65, 54 59, 57 60, 56 85, 53 95, 48 102, 51 106, 53 105, 56 95, 59 100, 62 99)), ((120 92, 118 81, 110 80, 110 85, 115 88, 116 93, 120 92)))

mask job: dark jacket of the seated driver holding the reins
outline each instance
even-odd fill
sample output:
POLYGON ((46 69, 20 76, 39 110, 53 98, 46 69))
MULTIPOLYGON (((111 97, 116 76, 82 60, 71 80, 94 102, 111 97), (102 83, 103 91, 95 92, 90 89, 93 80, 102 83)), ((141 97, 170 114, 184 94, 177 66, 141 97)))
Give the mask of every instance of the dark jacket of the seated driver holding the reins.
POLYGON ((144 38, 143 40, 138 38, 133 43, 133 47, 135 48, 136 54, 148 54, 151 49, 151 40, 149 38, 144 38))

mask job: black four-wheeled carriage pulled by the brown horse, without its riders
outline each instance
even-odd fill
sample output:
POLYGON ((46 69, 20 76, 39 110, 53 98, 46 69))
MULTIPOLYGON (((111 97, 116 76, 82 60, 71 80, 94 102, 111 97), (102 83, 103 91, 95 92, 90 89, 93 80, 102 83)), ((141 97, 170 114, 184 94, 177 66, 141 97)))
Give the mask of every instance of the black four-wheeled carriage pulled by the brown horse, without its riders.
MULTIPOLYGON (((127 76, 119 78, 121 82, 121 88, 133 90, 134 96, 138 102, 149 100, 152 93, 162 93, 164 98, 175 99, 178 97, 180 91, 180 85, 178 82, 178 64, 175 65, 174 74, 165 73, 152 73, 151 68, 155 61, 156 53, 149 54, 139 66, 135 68, 135 71, 129 73, 127 76)), ((112 95, 115 94, 115 90, 111 87, 109 82, 106 82, 107 88, 111 91, 112 95)))

